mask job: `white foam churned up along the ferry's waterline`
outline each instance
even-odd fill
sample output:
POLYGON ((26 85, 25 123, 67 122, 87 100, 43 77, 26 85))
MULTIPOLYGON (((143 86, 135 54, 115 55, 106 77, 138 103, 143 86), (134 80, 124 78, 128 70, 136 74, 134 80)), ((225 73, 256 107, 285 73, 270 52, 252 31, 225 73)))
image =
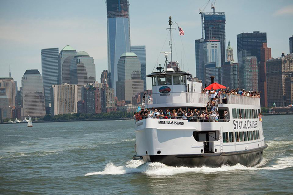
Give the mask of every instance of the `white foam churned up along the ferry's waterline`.
POLYGON ((172 176, 175 174, 183 173, 217 173, 217 172, 234 172, 241 170, 279 170, 288 167, 293 167, 293 157, 278 158, 276 164, 268 165, 268 160, 263 160, 259 165, 255 167, 246 167, 241 164, 234 166, 223 165, 221 167, 171 167, 159 162, 142 164, 139 160, 130 160, 126 162, 124 166, 115 166, 112 162, 108 163, 103 171, 91 172, 85 174, 85 176, 91 175, 121 175, 127 173, 143 173, 152 176, 172 176))

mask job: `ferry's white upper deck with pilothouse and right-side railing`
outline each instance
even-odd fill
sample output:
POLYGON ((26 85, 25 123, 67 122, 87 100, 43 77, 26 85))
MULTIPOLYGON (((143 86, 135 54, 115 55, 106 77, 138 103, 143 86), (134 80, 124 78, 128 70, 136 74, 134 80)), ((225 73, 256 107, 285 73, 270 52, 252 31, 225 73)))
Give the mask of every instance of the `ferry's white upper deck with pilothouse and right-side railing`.
MULTIPOLYGON (((153 97, 146 97, 146 107, 205 107, 209 101, 209 95, 201 93, 202 83, 194 82, 189 73, 168 68, 147 77, 152 78, 153 97)), ((220 104, 260 106, 257 97, 221 94, 219 100, 220 104)))

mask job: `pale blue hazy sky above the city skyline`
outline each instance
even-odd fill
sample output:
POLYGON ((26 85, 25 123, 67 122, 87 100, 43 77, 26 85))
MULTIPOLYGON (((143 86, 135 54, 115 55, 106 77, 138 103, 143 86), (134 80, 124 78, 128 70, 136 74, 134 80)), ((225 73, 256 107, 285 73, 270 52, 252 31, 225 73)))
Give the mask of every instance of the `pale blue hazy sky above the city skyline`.
MULTIPOLYGON (((172 16, 185 31, 180 37, 174 26, 173 61, 196 76, 194 40, 201 38, 199 9, 207 2, 129 0, 131 45, 146 45, 146 74, 164 64, 161 51, 170 51, 166 28, 172 16)), ((204 11, 212 12, 210 7, 209 3, 204 11)), ((266 32, 274 58, 289 53, 293 0, 216 0, 215 7, 226 14, 226 43, 230 40, 235 61, 236 36, 242 32, 266 32)), ((27 69, 42 71, 41 49, 61 51, 69 44, 94 58, 100 81, 101 72, 108 69, 106 16, 104 0, 0 0, 0 77, 8 77, 11 66, 12 77, 21 87, 27 69)), ((147 88, 151 89, 149 78, 147 88)))

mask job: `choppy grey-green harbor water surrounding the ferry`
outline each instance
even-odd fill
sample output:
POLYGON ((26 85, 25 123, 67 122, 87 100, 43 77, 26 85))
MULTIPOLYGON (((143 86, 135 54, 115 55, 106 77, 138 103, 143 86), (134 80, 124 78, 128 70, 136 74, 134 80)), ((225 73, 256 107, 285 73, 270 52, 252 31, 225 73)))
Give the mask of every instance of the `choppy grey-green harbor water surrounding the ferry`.
POLYGON ((131 160, 134 121, 0 125, 0 194, 293 194, 293 115, 265 116, 256 167, 131 160))

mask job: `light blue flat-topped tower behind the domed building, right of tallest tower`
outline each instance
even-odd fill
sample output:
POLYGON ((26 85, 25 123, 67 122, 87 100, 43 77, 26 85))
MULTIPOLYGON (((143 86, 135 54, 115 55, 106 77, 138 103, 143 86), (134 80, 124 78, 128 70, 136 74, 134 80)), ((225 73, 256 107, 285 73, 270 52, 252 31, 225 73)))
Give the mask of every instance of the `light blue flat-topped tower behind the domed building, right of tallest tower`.
POLYGON ((141 63, 141 79, 144 81, 144 91, 146 91, 146 46, 131 46, 130 50, 137 55, 141 63))

